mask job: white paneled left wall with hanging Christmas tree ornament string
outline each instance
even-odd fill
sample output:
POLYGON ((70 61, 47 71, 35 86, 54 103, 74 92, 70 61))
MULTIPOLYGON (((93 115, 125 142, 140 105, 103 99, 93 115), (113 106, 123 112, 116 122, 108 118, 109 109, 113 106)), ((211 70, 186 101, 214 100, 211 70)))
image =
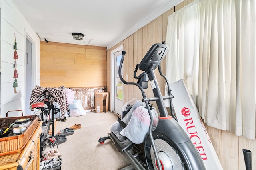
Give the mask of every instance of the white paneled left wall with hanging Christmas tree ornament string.
MULTIPOLYGON (((34 45, 32 47, 33 82, 32 88, 37 84, 40 85, 40 39, 28 24, 27 20, 16 8, 11 0, 1 0, 1 117, 5 117, 6 112, 10 110, 22 109, 24 112, 25 102, 25 43, 26 37, 34 45), (18 87, 17 93, 14 93, 14 43, 18 46, 18 87)), ((30 115, 30 113, 28 114, 30 115)))

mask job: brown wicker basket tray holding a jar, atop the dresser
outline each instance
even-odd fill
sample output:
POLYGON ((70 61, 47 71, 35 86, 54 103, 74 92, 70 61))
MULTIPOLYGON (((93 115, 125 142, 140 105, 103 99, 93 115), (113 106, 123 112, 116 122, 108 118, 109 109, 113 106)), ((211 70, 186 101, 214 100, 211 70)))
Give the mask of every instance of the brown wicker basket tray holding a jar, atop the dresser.
MULTIPOLYGON (((7 128, 16 119, 30 118, 30 125, 26 131, 20 135, 11 135, 0 138, 0 156, 20 152, 32 136, 38 125, 38 115, 22 116, 22 117, 6 117, 0 119, 0 128, 7 128)), ((9 134, 10 135, 10 134, 9 134)))

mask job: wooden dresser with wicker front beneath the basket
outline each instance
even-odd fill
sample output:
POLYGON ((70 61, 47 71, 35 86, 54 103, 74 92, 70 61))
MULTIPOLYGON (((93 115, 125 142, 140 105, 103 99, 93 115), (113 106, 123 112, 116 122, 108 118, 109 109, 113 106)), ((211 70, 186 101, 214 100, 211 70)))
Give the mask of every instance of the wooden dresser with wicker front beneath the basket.
POLYGON ((21 152, 0 156, 0 170, 39 170, 42 121, 21 152))

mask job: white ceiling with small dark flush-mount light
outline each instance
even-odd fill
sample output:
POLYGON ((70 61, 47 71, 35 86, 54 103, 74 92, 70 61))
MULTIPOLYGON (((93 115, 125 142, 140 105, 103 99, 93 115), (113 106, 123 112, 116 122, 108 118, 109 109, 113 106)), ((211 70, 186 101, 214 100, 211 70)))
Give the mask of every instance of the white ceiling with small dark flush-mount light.
POLYGON ((12 1, 41 40, 109 49, 183 0, 12 1))

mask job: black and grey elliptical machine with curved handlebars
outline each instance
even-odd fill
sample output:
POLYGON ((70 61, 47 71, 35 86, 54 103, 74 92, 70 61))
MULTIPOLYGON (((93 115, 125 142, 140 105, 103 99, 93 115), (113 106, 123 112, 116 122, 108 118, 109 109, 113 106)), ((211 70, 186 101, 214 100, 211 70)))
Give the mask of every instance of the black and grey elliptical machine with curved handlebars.
MULTIPOLYGON (((160 63, 164 59, 169 47, 162 44, 154 44, 146 53, 140 64, 136 65, 134 78, 138 79, 137 83, 126 82, 122 78, 121 68, 124 62, 126 51, 122 51, 122 59, 118 70, 119 77, 124 84, 135 85, 140 88, 142 93, 142 102, 145 102, 146 108, 150 115, 150 125, 148 136, 144 141, 144 151, 138 145, 132 143, 129 139, 122 136, 120 131, 111 132, 109 136, 101 137, 100 143, 106 139, 111 139, 119 152, 124 154, 131 165, 136 170, 205 170, 204 163, 200 154, 186 132, 178 124, 172 109, 172 96, 167 78, 162 74, 160 63), (142 71, 138 77, 136 72, 138 68, 142 71), (160 75, 166 80, 168 86, 168 96, 162 96, 154 70, 158 68, 160 75), (148 88, 150 81, 154 98, 146 98, 143 89, 148 88), (170 101, 171 115, 168 115, 164 105, 164 100, 170 101), (156 101, 159 114, 157 127, 152 131, 153 116, 150 110, 150 101, 156 101)), ((125 127, 124 122, 118 118, 120 124, 125 127)), ((126 169, 126 168, 123 168, 126 169)), ((128 169, 128 168, 127 168, 128 169)))

